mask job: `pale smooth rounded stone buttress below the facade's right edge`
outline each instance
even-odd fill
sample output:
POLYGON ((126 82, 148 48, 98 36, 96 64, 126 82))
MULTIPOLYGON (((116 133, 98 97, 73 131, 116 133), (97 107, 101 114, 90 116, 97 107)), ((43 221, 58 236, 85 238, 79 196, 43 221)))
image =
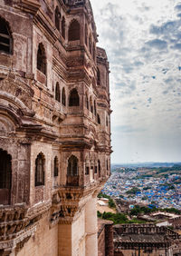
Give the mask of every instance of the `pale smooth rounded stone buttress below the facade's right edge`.
POLYGON ((85 205, 86 256, 98 256, 97 198, 90 197, 85 205))

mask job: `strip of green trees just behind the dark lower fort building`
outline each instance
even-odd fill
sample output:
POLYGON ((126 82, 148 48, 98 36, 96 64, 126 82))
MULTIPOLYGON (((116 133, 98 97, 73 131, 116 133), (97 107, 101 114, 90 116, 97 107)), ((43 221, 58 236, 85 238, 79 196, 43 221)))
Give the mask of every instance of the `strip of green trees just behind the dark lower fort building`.
POLYGON ((129 220, 126 214, 123 213, 111 213, 98 211, 98 217, 103 220, 109 220, 114 222, 114 224, 124 224, 124 223, 145 223, 144 221, 139 221, 137 218, 129 220))

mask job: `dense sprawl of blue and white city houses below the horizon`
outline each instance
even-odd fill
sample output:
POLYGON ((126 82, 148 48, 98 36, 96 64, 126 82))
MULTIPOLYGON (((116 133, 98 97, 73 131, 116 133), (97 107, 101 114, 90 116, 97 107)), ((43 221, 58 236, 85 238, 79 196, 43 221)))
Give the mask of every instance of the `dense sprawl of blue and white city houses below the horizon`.
MULTIPOLYGON (((181 166, 112 167, 103 193, 127 202, 181 210, 181 166)), ((130 205, 131 207, 131 205, 130 205)))

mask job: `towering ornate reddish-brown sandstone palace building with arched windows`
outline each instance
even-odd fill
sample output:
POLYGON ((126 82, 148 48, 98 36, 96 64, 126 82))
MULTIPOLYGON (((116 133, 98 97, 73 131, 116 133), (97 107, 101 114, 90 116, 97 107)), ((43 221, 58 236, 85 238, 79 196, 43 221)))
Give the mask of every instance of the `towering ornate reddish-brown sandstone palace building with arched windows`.
POLYGON ((89 0, 0 0, 0 255, 97 256, 109 63, 89 0))

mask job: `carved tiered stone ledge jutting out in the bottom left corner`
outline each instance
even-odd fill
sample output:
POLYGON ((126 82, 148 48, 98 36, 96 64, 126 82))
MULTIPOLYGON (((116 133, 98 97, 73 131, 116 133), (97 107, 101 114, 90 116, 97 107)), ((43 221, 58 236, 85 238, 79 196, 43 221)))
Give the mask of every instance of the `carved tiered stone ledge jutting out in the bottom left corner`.
POLYGON ((43 212, 49 211, 51 202, 33 208, 24 204, 0 206, 0 255, 20 251, 36 231, 43 212))

